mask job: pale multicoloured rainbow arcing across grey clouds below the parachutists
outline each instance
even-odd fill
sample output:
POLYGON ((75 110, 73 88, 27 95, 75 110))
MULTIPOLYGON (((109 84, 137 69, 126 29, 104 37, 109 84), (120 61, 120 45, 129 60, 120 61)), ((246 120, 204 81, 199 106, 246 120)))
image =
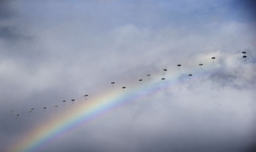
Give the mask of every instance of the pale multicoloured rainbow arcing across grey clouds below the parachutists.
MULTIPOLYGON (((204 68, 206 68, 206 66, 204 66, 204 68)), ((199 68, 197 67, 197 69, 199 68)), ((7 151, 38 151, 49 142, 64 136, 66 133, 79 129, 82 125, 90 122, 92 119, 99 117, 116 107, 120 107, 121 105, 155 95, 159 92, 159 87, 171 87, 178 82, 177 79, 181 75, 187 76, 187 74, 182 74, 180 71, 177 72, 177 70, 175 73, 174 71, 168 71, 168 73, 170 72, 172 74, 165 75, 166 80, 164 80, 164 84, 162 83, 163 80, 161 80, 162 76, 158 76, 157 78, 151 77, 150 80, 146 80, 147 78, 145 78, 142 85, 139 85, 139 82, 133 84, 133 86, 127 87, 125 92, 123 92, 121 86, 114 86, 110 91, 100 94, 97 97, 90 98, 89 101, 81 101, 68 111, 65 111, 65 113, 56 115, 49 121, 43 122, 42 125, 36 127, 28 133, 26 137, 19 140, 15 146, 7 151)), ((161 89, 161 91, 162 90, 163 89, 161 89)))

